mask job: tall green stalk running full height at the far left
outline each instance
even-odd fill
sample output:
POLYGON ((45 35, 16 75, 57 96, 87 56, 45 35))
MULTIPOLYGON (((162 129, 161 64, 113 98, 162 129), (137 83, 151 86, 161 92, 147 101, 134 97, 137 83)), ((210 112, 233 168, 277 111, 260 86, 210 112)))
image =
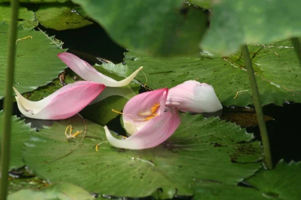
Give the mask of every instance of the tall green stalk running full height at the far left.
POLYGON ((17 39, 17 19, 19 12, 19 1, 11 0, 11 25, 9 30, 9 52, 6 74, 6 96, 4 102, 4 122, 1 135, 1 179, 0 179, 0 200, 7 199, 9 182, 9 164, 10 164, 10 145, 11 145, 11 120, 13 111, 13 84, 14 68, 16 56, 17 39))

